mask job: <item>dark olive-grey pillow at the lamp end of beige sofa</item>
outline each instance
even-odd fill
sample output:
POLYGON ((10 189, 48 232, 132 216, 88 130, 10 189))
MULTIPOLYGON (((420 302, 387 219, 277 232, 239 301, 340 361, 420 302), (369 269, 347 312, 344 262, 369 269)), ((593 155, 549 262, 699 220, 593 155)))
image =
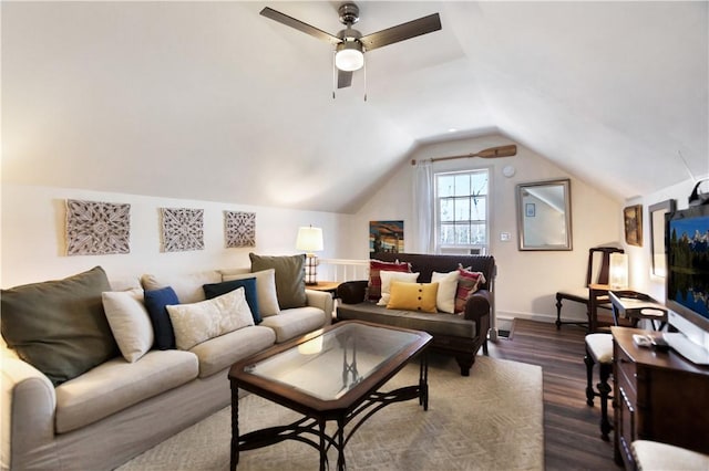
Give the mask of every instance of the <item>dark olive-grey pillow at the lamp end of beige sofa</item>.
POLYGON ((249 253, 248 257, 251 259, 251 272, 276 271, 276 296, 281 310, 306 305, 305 254, 265 257, 249 253))

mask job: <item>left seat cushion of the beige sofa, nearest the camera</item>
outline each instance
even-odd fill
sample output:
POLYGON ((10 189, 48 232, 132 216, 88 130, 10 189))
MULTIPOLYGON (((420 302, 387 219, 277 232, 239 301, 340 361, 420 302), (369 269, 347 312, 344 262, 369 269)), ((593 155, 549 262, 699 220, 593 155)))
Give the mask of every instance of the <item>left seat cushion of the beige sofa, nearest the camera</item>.
POLYGON ((151 350, 135 363, 111 359, 56 387, 56 432, 95 422, 197 377, 197 356, 151 350))

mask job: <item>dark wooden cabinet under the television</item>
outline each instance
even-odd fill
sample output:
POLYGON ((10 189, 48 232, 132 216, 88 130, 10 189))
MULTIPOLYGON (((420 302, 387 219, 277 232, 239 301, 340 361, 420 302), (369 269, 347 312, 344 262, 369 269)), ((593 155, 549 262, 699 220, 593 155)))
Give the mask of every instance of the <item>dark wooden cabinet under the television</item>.
POLYGON ((633 334, 651 331, 612 327, 615 381, 614 458, 636 469, 634 440, 655 440, 709 453, 709 367, 672 350, 638 347, 633 334))

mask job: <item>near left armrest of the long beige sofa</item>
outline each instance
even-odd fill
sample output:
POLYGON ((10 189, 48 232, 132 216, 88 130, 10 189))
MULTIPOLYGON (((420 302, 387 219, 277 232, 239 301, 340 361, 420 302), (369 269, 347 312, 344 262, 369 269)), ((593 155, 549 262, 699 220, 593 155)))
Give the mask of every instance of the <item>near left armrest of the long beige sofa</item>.
POLYGON ((0 362, 0 468, 20 469, 28 464, 24 460, 32 450, 54 439, 56 395, 49 378, 32 365, 10 355, 2 355, 0 362))

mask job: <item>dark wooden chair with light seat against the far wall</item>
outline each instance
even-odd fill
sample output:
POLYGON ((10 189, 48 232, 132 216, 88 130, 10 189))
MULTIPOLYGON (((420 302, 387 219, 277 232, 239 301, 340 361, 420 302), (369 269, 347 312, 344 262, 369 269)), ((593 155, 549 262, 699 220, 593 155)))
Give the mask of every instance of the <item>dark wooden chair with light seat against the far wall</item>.
MULTIPOLYGON (((590 299, 588 296, 588 285, 592 283, 608 284, 608 274, 610 272, 610 254, 615 252, 623 253, 623 249, 615 247, 595 247, 588 250, 588 266, 586 268, 586 286, 578 290, 565 290, 556 293, 556 328, 561 329, 562 324, 586 325, 590 333, 590 299), (598 263, 597 259, 600 258, 598 263), (597 266, 597 273, 596 273, 597 266), (594 276, 595 274, 595 276, 594 276), (573 301, 586 306, 586 322, 579 321, 562 321, 562 300, 573 301)), ((599 307, 610 308, 607 296, 602 297, 604 303, 599 307)))

